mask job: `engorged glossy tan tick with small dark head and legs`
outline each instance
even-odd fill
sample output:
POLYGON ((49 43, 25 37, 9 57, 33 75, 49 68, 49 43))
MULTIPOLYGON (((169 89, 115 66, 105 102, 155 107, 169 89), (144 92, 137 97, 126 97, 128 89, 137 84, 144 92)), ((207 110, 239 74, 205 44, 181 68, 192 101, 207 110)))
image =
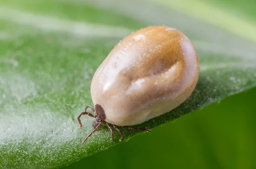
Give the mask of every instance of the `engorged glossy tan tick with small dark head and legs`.
POLYGON ((80 126, 81 115, 88 114, 96 118, 93 132, 106 122, 112 137, 110 124, 122 140, 116 126, 140 129, 128 126, 171 111, 191 95, 198 76, 198 55, 188 37, 166 26, 140 29, 120 41, 96 70, 91 83, 96 110, 89 106, 96 115, 85 109, 80 126))

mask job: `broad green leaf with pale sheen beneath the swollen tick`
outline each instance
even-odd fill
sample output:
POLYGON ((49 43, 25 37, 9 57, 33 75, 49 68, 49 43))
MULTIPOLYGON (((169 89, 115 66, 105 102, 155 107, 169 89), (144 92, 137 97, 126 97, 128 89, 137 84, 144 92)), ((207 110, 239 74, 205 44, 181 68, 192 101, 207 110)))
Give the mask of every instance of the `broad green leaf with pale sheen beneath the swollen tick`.
MULTIPOLYGON (((169 7, 143 0, 2 0, 0 168, 58 168, 119 143, 104 125, 80 146, 94 119, 82 117, 80 128, 76 117, 92 105, 91 78, 113 46, 141 27, 163 24, 192 40, 201 74, 188 100, 140 127, 256 86, 254 42, 169 7)), ((140 133, 122 131, 126 140, 140 133)))

